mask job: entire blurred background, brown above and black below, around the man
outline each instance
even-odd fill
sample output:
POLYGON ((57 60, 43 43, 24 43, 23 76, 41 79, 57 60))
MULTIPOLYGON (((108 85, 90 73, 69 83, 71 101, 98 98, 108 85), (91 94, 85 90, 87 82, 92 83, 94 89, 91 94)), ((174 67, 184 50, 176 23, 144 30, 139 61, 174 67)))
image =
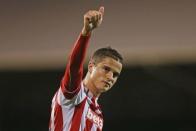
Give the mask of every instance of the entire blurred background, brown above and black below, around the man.
POLYGON ((48 130, 83 14, 100 5, 104 21, 86 63, 106 45, 125 59, 117 84, 99 99, 104 131, 196 130, 195 1, 2 0, 0 131, 48 130))

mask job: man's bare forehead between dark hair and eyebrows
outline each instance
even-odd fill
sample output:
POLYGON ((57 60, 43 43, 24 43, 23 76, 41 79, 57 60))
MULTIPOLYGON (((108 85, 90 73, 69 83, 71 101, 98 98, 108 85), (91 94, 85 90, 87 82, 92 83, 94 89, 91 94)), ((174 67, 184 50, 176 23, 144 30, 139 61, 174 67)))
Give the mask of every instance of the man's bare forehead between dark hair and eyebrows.
POLYGON ((105 57, 105 58, 101 59, 100 62, 97 65, 99 65, 99 66, 104 66, 104 65, 108 66, 112 70, 114 70, 118 73, 120 73, 121 70, 122 70, 122 64, 119 61, 117 61, 117 60, 115 60, 111 57, 105 57))

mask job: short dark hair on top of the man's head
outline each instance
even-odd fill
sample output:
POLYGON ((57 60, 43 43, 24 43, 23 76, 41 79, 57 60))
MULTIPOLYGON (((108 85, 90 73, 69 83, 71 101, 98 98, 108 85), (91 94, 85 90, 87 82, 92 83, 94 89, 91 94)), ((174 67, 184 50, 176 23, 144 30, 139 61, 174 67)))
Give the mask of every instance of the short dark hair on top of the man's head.
POLYGON ((111 48, 110 46, 96 50, 94 54, 92 55, 91 59, 95 62, 95 64, 97 64, 103 58, 106 58, 106 57, 111 57, 119 61, 121 64, 123 64, 122 55, 117 50, 111 48))

